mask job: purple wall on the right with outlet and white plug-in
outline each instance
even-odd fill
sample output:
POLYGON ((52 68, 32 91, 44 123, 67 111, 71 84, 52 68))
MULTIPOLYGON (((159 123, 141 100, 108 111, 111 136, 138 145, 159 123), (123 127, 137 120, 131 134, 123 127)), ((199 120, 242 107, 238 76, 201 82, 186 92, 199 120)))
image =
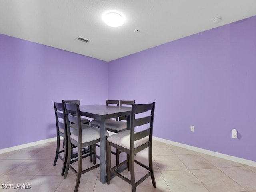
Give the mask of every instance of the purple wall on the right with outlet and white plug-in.
POLYGON ((155 101, 156 137, 256 161, 255 34, 256 16, 113 60, 108 98, 155 101))

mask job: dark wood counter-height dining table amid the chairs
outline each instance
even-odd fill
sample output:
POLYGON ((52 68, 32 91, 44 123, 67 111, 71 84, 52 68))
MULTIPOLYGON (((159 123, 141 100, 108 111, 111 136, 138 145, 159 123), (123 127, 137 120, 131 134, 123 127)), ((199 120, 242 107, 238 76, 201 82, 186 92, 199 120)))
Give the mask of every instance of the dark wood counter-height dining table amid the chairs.
POLYGON ((81 105, 80 114, 100 120, 100 182, 106 183, 106 119, 127 116, 127 128, 130 128, 131 107, 107 105, 81 105))

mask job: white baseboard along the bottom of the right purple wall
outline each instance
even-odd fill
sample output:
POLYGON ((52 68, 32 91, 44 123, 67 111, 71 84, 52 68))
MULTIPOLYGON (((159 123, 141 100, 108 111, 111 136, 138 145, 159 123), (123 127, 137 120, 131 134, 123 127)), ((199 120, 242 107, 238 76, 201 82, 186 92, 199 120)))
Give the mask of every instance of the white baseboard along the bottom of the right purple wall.
POLYGON ((206 150, 206 149, 202 149, 202 148, 198 148, 198 147, 193 147, 190 145, 186 145, 186 144, 182 144, 182 143, 178 143, 178 142, 174 142, 174 141, 170 141, 170 140, 166 140, 166 139, 162 139, 162 138, 158 138, 158 137, 154 137, 154 136, 153 136, 153 139, 156 141, 164 142, 166 144, 171 144, 171 145, 182 147, 182 148, 185 148, 188 150, 193 150, 193 151, 196 151, 199 153, 204 153, 204 154, 208 154, 211 156, 234 161, 237 163, 245 164, 248 166, 256 167, 256 161, 247 160, 247 159, 243 159, 243 158, 239 158, 239 157, 235 157, 235 156, 231 156, 231 155, 226 155, 226 154, 222 154, 222 153, 218 153, 218 152, 214 152, 214 151, 210 151, 210 150, 206 150))

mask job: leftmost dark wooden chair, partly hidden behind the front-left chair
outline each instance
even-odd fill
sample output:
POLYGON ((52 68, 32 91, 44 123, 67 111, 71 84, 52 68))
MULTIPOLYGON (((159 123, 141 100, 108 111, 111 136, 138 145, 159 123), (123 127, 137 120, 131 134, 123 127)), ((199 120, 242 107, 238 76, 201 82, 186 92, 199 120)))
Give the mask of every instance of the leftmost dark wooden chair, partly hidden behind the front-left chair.
MULTIPOLYGON (((65 110, 64 110, 64 103, 54 103, 54 112, 55 112, 55 119, 56 119, 56 131, 57 131, 57 147, 56 147, 56 154, 54 158, 53 166, 56 165, 56 162, 58 158, 60 158, 63 161, 62 165, 62 172, 61 175, 64 175, 64 171, 67 164, 67 125, 66 125, 66 116, 65 116, 65 110), (60 150, 60 136, 63 138, 63 143, 66 142, 63 146, 65 148, 63 150, 60 150)), ((83 124, 83 128, 90 127, 86 124, 83 124)), ((77 153, 73 153, 73 148, 75 146, 72 146, 71 148, 71 159, 72 162, 75 162, 77 160, 77 153)), ((83 154, 89 153, 90 151, 88 149, 83 149, 83 154)), ((92 162, 92 155, 90 156, 90 161, 92 162)))

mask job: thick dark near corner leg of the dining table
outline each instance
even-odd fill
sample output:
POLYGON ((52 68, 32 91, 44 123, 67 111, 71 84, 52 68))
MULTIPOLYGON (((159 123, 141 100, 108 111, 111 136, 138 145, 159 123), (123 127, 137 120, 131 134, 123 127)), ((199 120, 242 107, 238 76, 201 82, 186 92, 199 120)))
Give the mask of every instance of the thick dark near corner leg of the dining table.
POLYGON ((106 183, 106 121, 100 122, 100 182, 106 183))

